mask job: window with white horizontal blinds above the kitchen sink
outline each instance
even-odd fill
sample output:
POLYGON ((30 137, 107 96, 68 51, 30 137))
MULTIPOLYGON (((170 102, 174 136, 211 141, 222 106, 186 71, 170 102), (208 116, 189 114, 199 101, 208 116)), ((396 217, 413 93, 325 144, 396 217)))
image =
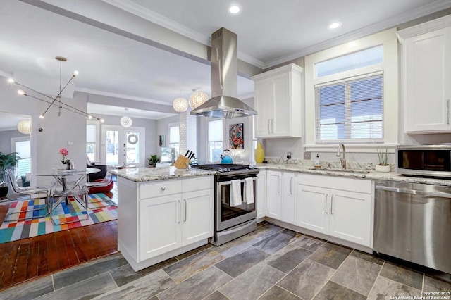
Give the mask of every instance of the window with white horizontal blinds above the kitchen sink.
POLYGON ((315 87, 316 142, 383 142, 383 73, 315 87))

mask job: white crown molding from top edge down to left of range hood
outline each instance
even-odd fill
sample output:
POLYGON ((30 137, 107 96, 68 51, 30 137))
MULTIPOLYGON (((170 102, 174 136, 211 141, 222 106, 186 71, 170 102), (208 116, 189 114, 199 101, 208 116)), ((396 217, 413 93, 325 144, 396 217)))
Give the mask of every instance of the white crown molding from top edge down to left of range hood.
POLYGON ((155 13, 151 11, 149 8, 145 8, 144 6, 140 6, 135 4, 130 0, 102 0, 107 4, 111 4, 112 6, 116 6, 117 8, 121 8, 123 11, 127 11, 128 13, 132 13, 137 15, 144 20, 148 20, 152 23, 160 25, 161 27, 165 27, 168 30, 172 30, 173 32, 177 32, 180 35, 193 39, 196 42, 201 44, 210 46, 211 45, 211 37, 206 37, 202 35, 202 33, 192 30, 180 23, 171 20, 170 18, 166 18, 164 15, 160 15, 159 13, 155 13))

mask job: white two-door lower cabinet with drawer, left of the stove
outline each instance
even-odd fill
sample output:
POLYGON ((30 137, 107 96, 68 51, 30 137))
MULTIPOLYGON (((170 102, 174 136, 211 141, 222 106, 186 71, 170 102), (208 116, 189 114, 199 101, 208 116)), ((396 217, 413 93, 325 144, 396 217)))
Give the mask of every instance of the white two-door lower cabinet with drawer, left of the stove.
POLYGON ((213 236, 213 182, 197 177, 143 184, 141 190, 168 196, 140 200, 140 261, 213 236))

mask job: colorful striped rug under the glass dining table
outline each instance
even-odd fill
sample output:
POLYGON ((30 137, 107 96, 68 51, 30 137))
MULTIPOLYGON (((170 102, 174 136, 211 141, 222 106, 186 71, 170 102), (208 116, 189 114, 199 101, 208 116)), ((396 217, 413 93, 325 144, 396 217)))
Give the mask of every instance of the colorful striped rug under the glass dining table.
MULTIPOLYGON (((104 208, 95 208, 105 205, 116 204, 115 201, 111 200, 106 194, 89 194, 89 208, 88 209, 89 219, 82 220, 78 222, 63 224, 63 225, 53 225, 51 223, 50 217, 37 218, 33 220, 25 221, 12 221, 4 222, 0 226, 0 244, 6 242, 16 241, 18 239, 26 239, 27 237, 36 237, 38 235, 45 235, 51 232, 57 232, 61 230, 68 230, 76 227, 92 225, 96 223, 116 220, 118 218, 117 206, 109 206, 104 208)), ((27 211, 30 208, 44 208, 45 199, 27 199, 23 201, 16 201, 11 203, 8 213, 16 213, 20 211, 27 211)), ((41 213, 42 211, 35 211, 41 213)), ((23 218, 25 213, 16 213, 8 218, 23 218)), ((31 212, 27 213, 30 216, 31 212)), ((59 218, 61 222, 65 220, 79 220, 80 218, 85 218, 84 213, 82 214, 80 210, 80 204, 74 199, 69 199, 69 204, 66 205, 65 201, 61 205, 57 206, 55 211, 52 213, 55 218, 59 218), (79 218, 80 217, 80 218, 79 218)))

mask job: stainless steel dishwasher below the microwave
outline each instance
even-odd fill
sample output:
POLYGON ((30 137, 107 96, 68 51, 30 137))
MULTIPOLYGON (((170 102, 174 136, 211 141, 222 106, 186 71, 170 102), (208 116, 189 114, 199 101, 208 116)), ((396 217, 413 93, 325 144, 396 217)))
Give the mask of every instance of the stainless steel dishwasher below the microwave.
POLYGON ((373 250, 451 273, 451 187, 376 180, 373 250))

